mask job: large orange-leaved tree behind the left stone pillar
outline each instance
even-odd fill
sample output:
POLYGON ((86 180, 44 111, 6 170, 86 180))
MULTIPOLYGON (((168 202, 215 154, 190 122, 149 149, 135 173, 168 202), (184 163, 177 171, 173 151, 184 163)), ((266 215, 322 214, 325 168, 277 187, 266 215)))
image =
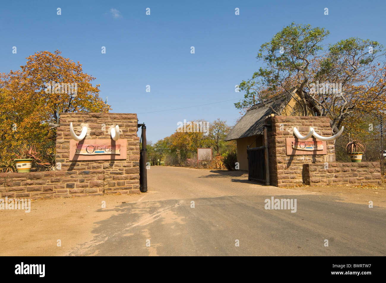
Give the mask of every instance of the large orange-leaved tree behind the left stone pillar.
POLYGON ((108 112, 94 77, 61 52, 37 52, 20 70, 0 73, 0 156, 9 159, 22 144, 54 146, 60 112, 108 112))

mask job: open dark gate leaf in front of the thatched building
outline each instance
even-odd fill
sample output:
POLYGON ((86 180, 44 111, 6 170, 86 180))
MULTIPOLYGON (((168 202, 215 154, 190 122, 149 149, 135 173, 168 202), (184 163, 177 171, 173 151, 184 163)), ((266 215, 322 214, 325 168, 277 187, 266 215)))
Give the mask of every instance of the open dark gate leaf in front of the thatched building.
POLYGON ((266 182, 264 151, 264 146, 247 149, 248 180, 266 182))

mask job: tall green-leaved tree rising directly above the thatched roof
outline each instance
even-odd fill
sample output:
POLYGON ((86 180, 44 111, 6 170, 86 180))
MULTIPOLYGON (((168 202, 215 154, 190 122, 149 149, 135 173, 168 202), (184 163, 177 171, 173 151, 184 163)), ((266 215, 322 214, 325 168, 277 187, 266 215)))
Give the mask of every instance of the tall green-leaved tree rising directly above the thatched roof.
POLYGON ((317 52, 323 49, 322 41, 329 32, 324 28, 292 23, 275 34, 271 41, 261 45, 257 59, 263 67, 248 81, 240 83, 245 91, 242 102, 235 103, 237 108, 251 106, 251 103, 264 102, 272 94, 288 92, 303 105, 303 115, 308 115, 308 102, 303 91, 310 80, 310 67, 316 60, 317 52))

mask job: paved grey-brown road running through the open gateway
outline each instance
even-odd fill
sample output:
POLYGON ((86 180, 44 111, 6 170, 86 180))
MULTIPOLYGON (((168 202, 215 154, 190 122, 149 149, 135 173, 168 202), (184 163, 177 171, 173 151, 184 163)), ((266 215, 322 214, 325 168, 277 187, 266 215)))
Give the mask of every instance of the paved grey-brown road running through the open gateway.
POLYGON ((384 208, 260 186, 241 172, 234 175, 152 166, 149 191, 114 208, 116 215, 96 223, 94 240, 70 255, 386 255, 384 208), (296 198, 297 211, 264 209, 272 196, 296 198))

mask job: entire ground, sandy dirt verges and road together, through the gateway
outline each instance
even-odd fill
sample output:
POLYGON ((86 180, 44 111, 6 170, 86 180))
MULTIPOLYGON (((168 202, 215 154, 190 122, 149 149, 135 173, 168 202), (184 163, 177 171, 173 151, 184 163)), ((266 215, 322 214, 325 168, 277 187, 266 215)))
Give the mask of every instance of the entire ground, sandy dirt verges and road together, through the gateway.
POLYGON ((323 188, 261 186, 243 172, 223 173, 152 166, 147 193, 0 210, 0 255, 386 254, 384 188, 351 203, 323 188), (264 209, 271 197, 296 199, 296 213, 264 209))

